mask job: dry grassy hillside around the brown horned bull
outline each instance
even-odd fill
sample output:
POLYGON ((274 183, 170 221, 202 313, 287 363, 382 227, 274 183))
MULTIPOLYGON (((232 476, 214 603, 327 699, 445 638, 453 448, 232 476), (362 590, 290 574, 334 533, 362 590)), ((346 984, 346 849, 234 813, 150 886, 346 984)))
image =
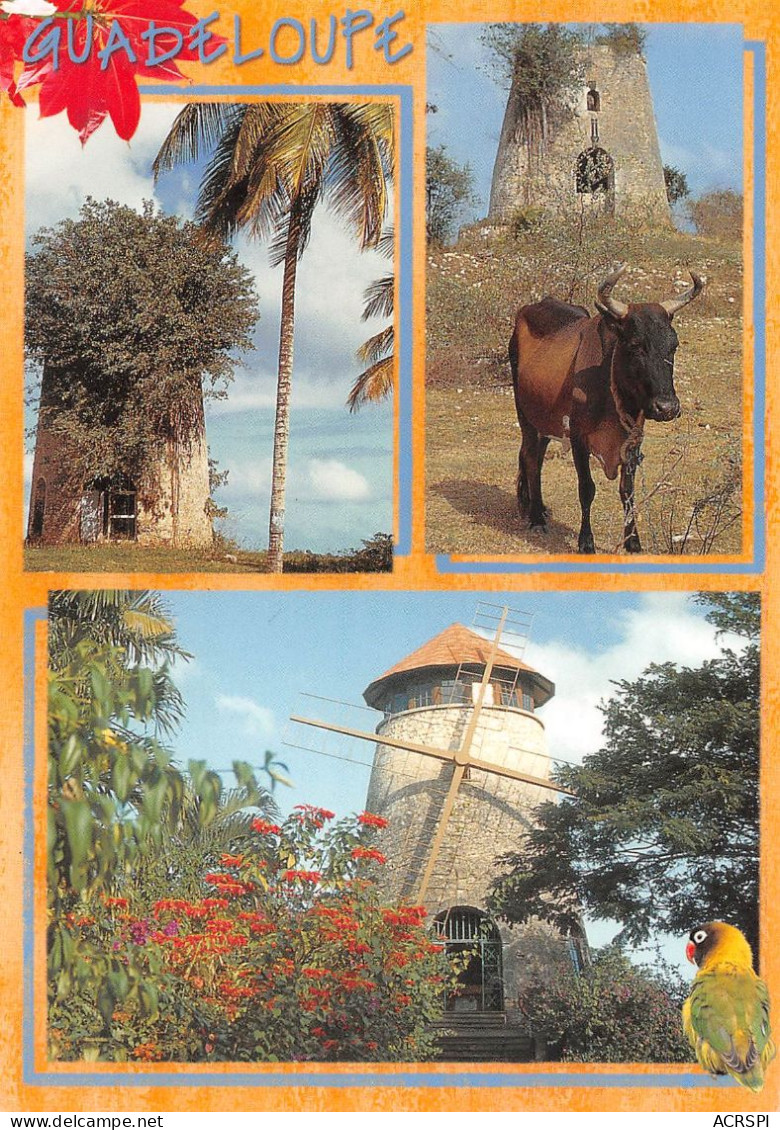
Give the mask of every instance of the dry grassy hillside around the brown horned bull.
MULTIPOLYGON (((571 554, 580 510, 571 454, 549 445, 546 533, 518 514, 520 428, 508 345, 517 310, 545 295, 593 311, 618 261, 615 295, 660 301, 707 275, 703 295, 675 319, 675 384, 683 414, 649 421, 636 476, 639 528, 649 554, 742 550, 743 266, 731 242, 635 223, 540 221, 512 234, 476 225, 428 254, 426 338, 426 548, 478 556, 571 554)), ((622 551, 617 485, 593 466, 597 553, 622 551)))

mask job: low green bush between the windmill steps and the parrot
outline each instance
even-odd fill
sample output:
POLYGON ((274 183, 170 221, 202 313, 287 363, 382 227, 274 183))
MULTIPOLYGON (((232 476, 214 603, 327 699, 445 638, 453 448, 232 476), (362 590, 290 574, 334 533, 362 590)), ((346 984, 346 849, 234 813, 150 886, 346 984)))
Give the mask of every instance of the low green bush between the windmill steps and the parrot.
POLYGON ((561 960, 531 963, 520 999, 528 1031, 578 1063, 682 1063, 691 1060, 679 1010, 686 989, 665 970, 633 965, 605 946, 578 973, 561 960))

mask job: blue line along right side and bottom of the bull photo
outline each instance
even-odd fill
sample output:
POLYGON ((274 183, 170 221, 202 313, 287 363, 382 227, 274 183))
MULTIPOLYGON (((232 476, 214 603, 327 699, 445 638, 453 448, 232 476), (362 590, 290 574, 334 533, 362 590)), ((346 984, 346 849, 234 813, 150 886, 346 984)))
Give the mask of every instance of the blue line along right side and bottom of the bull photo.
POLYGON ((764 522, 764 415, 766 405, 766 44, 745 40, 753 54, 753 560, 717 564, 684 562, 454 562, 448 554, 436 556, 439 573, 729 573, 755 574, 764 570, 766 557, 764 522))

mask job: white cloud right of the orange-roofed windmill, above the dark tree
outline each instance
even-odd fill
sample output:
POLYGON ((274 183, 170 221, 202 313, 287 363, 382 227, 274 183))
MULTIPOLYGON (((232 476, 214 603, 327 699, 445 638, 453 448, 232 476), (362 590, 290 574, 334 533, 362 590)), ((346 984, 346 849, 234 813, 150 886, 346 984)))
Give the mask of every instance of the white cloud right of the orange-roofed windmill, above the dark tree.
POLYGON ((543 673, 554 671, 558 688, 540 713, 553 757, 579 762, 599 748, 598 704, 613 694, 613 680, 634 679, 651 663, 697 666, 720 651, 716 629, 691 609, 685 593, 643 597, 623 615, 621 627, 619 641, 601 651, 563 640, 529 645, 527 661, 543 673))

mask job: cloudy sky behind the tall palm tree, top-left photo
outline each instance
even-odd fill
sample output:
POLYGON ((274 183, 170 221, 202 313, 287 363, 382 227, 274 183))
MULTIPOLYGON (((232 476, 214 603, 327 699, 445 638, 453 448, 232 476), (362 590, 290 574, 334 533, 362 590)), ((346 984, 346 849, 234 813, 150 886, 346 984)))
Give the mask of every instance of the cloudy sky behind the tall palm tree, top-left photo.
MULTIPOLYGON (((73 218, 86 195, 139 208, 154 200, 165 211, 190 217, 198 189, 194 168, 175 169, 155 185, 151 163, 180 106, 146 103, 138 132, 121 141, 110 122, 81 147, 62 114, 40 120, 26 114, 26 226, 73 218)), ((211 458, 228 470, 216 501, 228 507, 224 532, 245 548, 263 548, 268 537, 276 363, 281 268, 268 267, 266 249, 244 236, 235 242, 260 296, 254 350, 234 371, 227 400, 207 403, 211 458)), ((392 530, 392 406, 356 414, 345 407, 362 370, 358 346, 383 325, 363 322, 363 293, 388 273, 388 260, 358 252, 355 241, 320 206, 312 238, 298 268, 295 373, 293 377, 287 481, 287 549, 335 551, 359 548, 364 539, 392 530)), ((34 424, 34 418, 29 419, 34 424)), ((33 444, 25 455, 32 476, 33 444)))

